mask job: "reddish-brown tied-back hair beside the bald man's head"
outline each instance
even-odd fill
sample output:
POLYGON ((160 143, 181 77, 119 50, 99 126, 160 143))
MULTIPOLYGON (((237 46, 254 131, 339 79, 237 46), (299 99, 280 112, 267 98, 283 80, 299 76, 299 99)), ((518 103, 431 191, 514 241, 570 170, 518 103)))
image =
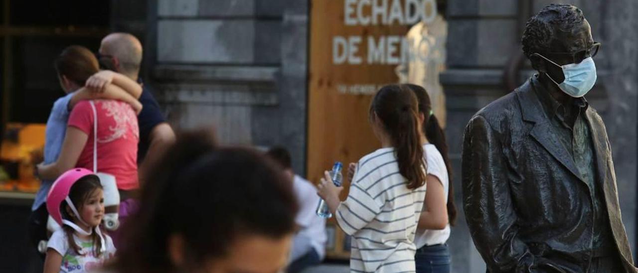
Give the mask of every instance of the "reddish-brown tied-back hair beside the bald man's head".
POLYGON ((93 52, 80 45, 64 48, 57 56, 54 66, 59 77, 64 75, 79 86, 84 86, 89 77, 100 71, 100 64, 93 52))

